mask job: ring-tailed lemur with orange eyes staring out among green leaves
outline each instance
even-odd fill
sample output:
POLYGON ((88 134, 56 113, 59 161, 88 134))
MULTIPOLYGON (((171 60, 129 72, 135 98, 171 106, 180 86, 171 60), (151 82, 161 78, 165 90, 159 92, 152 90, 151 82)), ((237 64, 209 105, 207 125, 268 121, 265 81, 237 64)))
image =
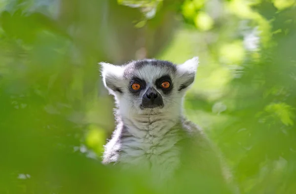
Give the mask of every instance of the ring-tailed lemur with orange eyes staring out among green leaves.
POLYGON ((158 178, 169 177, 190 162, 223 174, 212 144, 183 114, 185 91, 194 81, 198 63, 198 57, 181 65, 155 59, 121 66, 99 63, 117 106, 117 127, 105 145, 103 163, 148 169, 158 178), (189 156, 187 164, 184 155, 189 156))

